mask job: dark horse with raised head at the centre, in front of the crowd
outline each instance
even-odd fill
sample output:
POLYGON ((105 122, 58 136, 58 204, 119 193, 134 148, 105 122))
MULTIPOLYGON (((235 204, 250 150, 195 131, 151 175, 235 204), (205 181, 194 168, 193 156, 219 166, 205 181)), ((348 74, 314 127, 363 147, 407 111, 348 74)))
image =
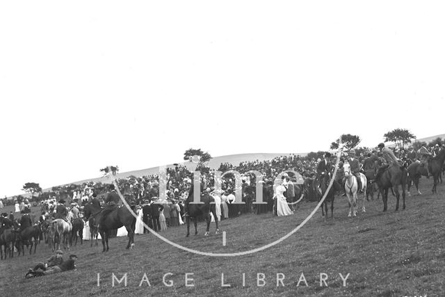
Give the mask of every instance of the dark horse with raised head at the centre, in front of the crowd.
POLYGON ((193 202, 193 184, 191 185, 190 191, 188 191, 188 198, 186 200, 186 221, 187 221, 187 237, 190 235, 190 218, 193 218, 193 222, 195 223, 195 235, 197 234, 197 218, 199 216, 204 216, 207 222, 207 231, 204 234, 205 236, 209 235, 211 216, 210 213, 213 214, 213 218, 215 218, 216 223, 216 234, 218 234, 218 217, 216 216, 216 206, 215 200, 208 194, 201 195, 202 204, 194 204, 193 202))

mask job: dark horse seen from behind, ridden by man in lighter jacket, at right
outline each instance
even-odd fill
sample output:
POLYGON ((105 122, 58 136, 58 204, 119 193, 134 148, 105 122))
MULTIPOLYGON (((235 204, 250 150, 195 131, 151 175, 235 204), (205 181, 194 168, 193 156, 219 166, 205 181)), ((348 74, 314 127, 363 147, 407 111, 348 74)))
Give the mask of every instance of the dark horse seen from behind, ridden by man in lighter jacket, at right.
POLYGON ((407 170, 403 166, 393 164, 387 168, 379 168, 375 177, 375 182, 378 185, 379 192, 382 194, 383 211, 388 209, 388 191, 391 188, 396 195, 396 211, 398 211, 398 202, 401 194, 398 192, 398 186, 402 188, 403 209, 405 209, 405 186, 407 184, 407 170))

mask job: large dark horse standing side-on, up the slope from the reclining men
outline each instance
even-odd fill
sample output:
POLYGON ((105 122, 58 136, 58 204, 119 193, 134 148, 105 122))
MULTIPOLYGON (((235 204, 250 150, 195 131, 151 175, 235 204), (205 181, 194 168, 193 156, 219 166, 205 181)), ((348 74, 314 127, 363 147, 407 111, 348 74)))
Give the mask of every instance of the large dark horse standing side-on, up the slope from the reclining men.
MULTIPOLYGON (((96 222, 102 222, 102 208, 97 207, 95 204, 91 202, 87 203, 83 209, 83 213, 86 218, 90 218, 93 216, 96 222)), ((100 236, 102 237, 102 252, 108 251, 108 237, 111 234, 112 230, 119 229, 122 226, 125 226, 128 232, 128 244, 127 249, 134 247, 134 223, 136 222, 136 218, 131 214, 131 212, 127 209, 127 207, 117 207, 113 209, 113 211, 109 212, 105 218, 104 223, 102 225, 99 224, 97 227, 100 236)))

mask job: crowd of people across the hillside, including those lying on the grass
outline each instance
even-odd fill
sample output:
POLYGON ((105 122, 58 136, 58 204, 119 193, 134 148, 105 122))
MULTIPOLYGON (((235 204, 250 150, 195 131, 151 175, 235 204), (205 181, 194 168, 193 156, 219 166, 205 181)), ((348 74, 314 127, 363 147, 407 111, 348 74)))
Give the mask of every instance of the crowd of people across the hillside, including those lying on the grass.
MULTIPOLYGON (((442 146, 437 144, 429 149, 422 146, 419 150, 413 147, 407 150, 389 149, 383 143, 373 149, 345 150, 341 155, 339 168, 343 163, 348 163, 351 172, 357 174, 360 171, 369 170, 375 164, 380 164, 380 168, 396 163, 398 166, 407 166, 408 163, 419 162, 423 166, 428 166, 428 160, 436 156, 442 146)), ((332 172, 335 163, 335 155, 329 152, 321 152, 318 158, 314 156, 299 156, 291 154, 289 156, 280 156, 265 161, 245 161, 234 166, 230 163, 222 163, 218 171, 228 172, 226 175, 217 175, 217 170, 205 167, 200 164, 197 170, 201 172, 202 193, 210 195, 216 202, 216 218, 212 220, 225 220, 234 218, 245 213, 263 214, 273 212, 277 216, 289 216, 293 214, 294 198, 298 198, 299 193, 305 193, 308 200, 311 200, 311 191, 314 190, 309 184, 316 181, 326 172, 332 172), (238 173, 236 173, 238 172, 238 173), (257 177, 253 172, 261 173, 263 201, 265 205, 254 204, 255 191, 257 191, 257 177), (283 172, 286 172, 282 175, 283 172), (297 181, 295 172, 303 177, 304 183, 297 181), (239 175, 238 175, 239 174, 239 175), (277 177, 282 178, 277 178, 277 177), (237 180, 241 179, 241 188, 237 180), (220 186, 217 186, 219 184, 220 186), (240 200, 236 195, 240 195, 244 204, 237 204, 240 200), (291 205, 291 207, 289 207, 291 205)), ((339 182, 343 182, 343 170, 339 170, 339 182)), ((377 171, 376 171, 377 172, 377 171)), ((165 174, 148 175, 143 177, 127 177, 118 179, 116 182, 124 198, 135 207, 137 220, 135 226, 136 234, 147 232, 144 223, 154 232, 163 232, 167 228, 177 227, 184 224, 187 213, 188 195, 193 184, 193 172, 186 166, 179 164, 174 168, 167 168, 165 174), (160 193, 160 185, 166 185, 165 193, 160 193), (162 195, 163 194, 163 195, 162 195)), ((86 183, 78 186, 67 186, 59 188, 59 193, 65 193, 65 199, 57 195, 49 195, 46 199, 40 201, 40 214, 38 219, 31 211, 31 203, 27 199, 17 199, 14 201, 15 212, 22 214, 24 218, 32 220, 32 223, 43 222, 54 218, 88 218, 83 216, 83 207, 88 202, 101 204, 102 206, 118 204, 120 197, 114 188, 114 185, 105 185, 101 183, 86 183), (70 188, 72 191, 66 191, 70 188), (65 190, 65 192, 64 192, 65 190), (67 205, 65 205, 67 203, 67 205)), ((13 211, 9 216, 6 213, 1 214, 3 224, 9 221, 18 220, 14 218, 13 211)), ((22 222, 17 222, 22 223, 22 222)), ((3 225, 1 227, 4 227, 3 225)), ((122 229, 122 228, 121 228, 122 229)), ((126 230, 117 230, 118 236, 127 235, 126 230)), ((74 269, 76 255, 70 255, 67 262, 63 262, 63 252, 58 250, 56 255, 51 256, 45 262, 30 268, 26 277, 35 277, 58 273, 74 269)))

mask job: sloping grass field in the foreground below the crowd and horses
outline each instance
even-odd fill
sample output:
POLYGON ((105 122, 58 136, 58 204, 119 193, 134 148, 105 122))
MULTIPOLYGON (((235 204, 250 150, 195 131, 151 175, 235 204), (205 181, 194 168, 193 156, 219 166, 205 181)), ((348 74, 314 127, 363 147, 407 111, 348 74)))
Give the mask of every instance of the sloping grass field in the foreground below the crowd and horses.
MULTIPOLYGON (((70 251, 79 256, 76 271, 26 280, 27 268, 51 255, 41 243, 35 255, 0 262, 0 296, 444 296, 445 186, 439 186, 439 195, 430 195, 431 183, 421 179, 424 195, 407 197, 407 209, 398 212, 390 195, 386 213, 382 201, 374 200, 366 202, 363 214, 360 201, 357 218, 348 218, 346 198, 336 197, 334 220, 323 221, 318 211, 282 243, 239 257, 195 255, 144 234, 136 236, 134 250, 124 249, 123 237, 111 239, 107 253, 101 252, 100 243, 90 248, 86 241, 70 251), (112 273, 119 279, 127 273, 127 287, 123 282, 112 287, 112 273), (147 282, 139 287, 144 273, 151 287, 147 282), (186 286, 186 273, 194 273, 188 275, 194 287, 186 286), (257 283, 257 273, 264 273, 265 282, 257 283), (297 286, 302 273, 307 286, 304 281, 297 286), (320 273, 327 275, 327 287, 320 286, 320 273), (346 287, 339 273, 350 273, 346 287), (222 274, 230 287, 222 286, 222 274), (163 275, 172 287, 163 284, 163 275), (278 287, 277 276, 284 276, 278 287)), ((209 237, 203 236, 204 223, 198 225, 197 236, 186 238, 184 226, 161 234, 195 250, 241 252, 289 233, 315 206, 303 202, 293 216, 280 218, 252 214, 223 220, 226 246, 223 235, 214 234, 213 223, 209 237)))

